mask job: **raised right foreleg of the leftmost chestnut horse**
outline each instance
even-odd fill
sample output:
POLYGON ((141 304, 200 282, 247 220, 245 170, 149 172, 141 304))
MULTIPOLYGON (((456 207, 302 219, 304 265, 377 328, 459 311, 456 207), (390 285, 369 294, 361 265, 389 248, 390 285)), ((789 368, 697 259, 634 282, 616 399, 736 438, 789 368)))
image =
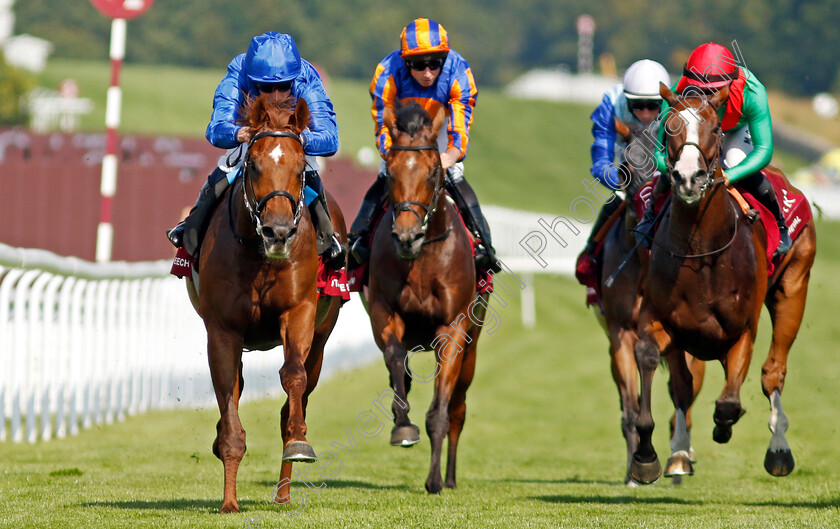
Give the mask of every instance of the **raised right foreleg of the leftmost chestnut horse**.
MULTIPOLYGON (((312 347, 315 304, 303 303, 280 317, 280 335, 285 355, 280 381, 286 391, 288 419, 283 425, 283 461, 315 461, 315 451, 306 440, 305 398, 306 361, 312 347)), ((311 390, 310 390, 311 391, 311 390)))

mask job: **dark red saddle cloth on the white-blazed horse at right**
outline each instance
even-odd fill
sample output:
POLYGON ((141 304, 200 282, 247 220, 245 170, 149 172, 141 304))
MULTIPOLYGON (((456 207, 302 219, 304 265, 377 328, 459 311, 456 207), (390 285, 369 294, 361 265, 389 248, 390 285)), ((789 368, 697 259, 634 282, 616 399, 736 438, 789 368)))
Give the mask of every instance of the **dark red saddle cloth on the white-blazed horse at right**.
MULTIPOLYGON (((785 216, 785 223, 790 233, 790 238, 796 241, 796 238, 802 232, 802 229, 812 218, 811 205, 808 203, 803 195, 796 193, 788 187, 787 181, 784 177, 773 169, 765 168, 761 174, 767 178, 776 190, 776 200, 782 208, 782 213, 785 216)), ((636 214, 642 218, 650 197, 653 194, 653 187, 656 185, 656 178, 646 183, 639 189, 638 193, 633 197, 633 205, 636 207, 636 214)), ((735 184, 735 189, 744 197, 747 203, 758 211, 761 223, 764 225, 764 230, 767 232, 767 275, 773 273, 776 266, 782 261, 783 256, 775 256, 776 248, 779 247, 779 227, 776 225, 776 217, 770 213, 761 202, 758 201, 751 193, 741 189, 738 184, 735 184)), ((730 193, 732 190, 730 190, 730 193)), ((659 213, 662 205, 665 203, 667 193, 657 197, 655 211, 659 213)))

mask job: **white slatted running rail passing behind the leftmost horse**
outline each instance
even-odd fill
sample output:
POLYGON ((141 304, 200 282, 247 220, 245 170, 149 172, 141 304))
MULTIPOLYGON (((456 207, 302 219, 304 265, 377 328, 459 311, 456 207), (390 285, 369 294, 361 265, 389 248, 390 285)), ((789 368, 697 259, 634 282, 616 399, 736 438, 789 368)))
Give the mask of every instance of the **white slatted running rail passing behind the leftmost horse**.
MULTIPOLYGON (((0 244, 0 441, 215 406, 204 325, 170 264, 91 263, 0 244)), ((324 376, 379 357, 366 329, 353 300, 327 346, 324 376)), ((245 353, 243 364, 243 398, 283 394, 282 349, 245 353)))

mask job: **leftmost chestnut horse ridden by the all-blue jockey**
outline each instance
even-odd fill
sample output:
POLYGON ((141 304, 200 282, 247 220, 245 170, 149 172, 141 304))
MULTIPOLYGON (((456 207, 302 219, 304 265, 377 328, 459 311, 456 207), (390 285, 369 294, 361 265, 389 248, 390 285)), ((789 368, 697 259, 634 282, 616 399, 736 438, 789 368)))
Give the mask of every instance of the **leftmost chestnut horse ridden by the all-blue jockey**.
MULTIPOLYGON (((283 464, 275 501, 287 502, 292 462, 316 459, 306 440, 306 403, 318 382, 324 345, 340 300, 318 297, 315 229, 304 205, 300 133, 306 101, 262 94, 246 110, 255 135, 243 175, 213 213, 201 248, 197 307, 207 329, 207 356, 221 419, 213 453, 224 463, 222 512, 238 512, 236 472, 245 454, 239 421, 242 351, 283 345, 280 380, 288 398, 281 412, 283 464)), ((332 197, 337 233, 344 218, 332 197)))

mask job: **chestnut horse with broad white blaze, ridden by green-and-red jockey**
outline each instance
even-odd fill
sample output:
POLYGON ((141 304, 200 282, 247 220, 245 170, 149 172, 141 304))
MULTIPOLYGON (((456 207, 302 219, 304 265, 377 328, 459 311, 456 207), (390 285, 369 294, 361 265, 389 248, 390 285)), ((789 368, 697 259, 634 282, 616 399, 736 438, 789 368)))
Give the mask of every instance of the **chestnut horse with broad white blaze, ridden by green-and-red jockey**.
POLYGON ((712 96, 694 93, 677 97, 661 85, 660 93, 671 105, 663 126, 672 199, 653 241, 639 316, 635 354, 641 375, 641 411, 636 422, 639 445, 630 475, 639 483, 651 483, 661 471, 651 443, 654 425, 650 413, 653 372, 660 354, 679 362, 673 372, 682 375, 672 379, 677 425, 666 473, 691 473, 685 424, 691 374, 675 351, 684 349, 702 360, 723 364, 726 381, 715 402, 713 438, 719 443, 729 440, 732 425, 745 411, 740 389, 763 303, 773 324, 770 353, 761 375, 762 389, 770 401, 772 432, 764 467, 771 475, 785 476, 793 470, 794 460, 784 435, 788 420, 782 412, 781 395, 816 252, 813 220, 768 279, 765 229, 761 223, 750 222, 727 192, 720 167, 717 109, 725 104, 728 88, 712 96))

